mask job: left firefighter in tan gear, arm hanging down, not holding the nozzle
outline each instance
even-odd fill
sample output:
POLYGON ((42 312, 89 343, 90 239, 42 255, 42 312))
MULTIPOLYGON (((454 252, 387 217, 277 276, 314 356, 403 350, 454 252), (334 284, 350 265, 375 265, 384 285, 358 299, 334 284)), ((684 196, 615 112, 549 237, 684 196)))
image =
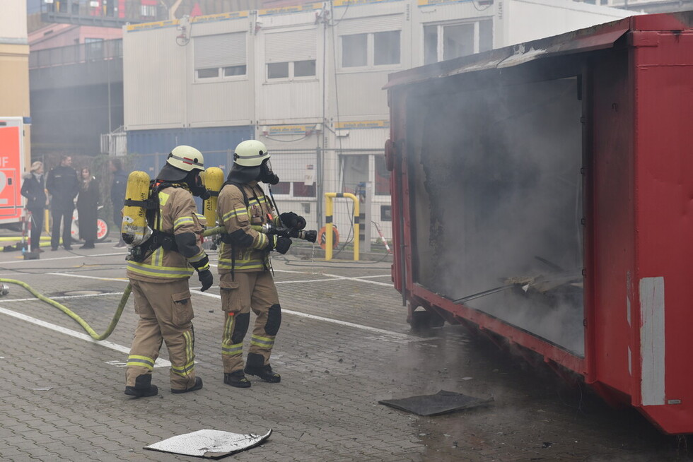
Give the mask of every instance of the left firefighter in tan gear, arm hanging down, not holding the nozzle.
MULTIPOLYGON (((193 200, 193 196, 206 196, 199 177, 203 169, 199 150, 177 146, 151 184, 147 223, 153 234, 132 248, 127 264, 139 322, 127 358, 126 395, 140 398, 158 393, 151 384, 151 372, 162 342, 171 362, 171 392, 202 388, 202 379, 195 377, 194 314, 188 281, 193 271, 197 271, 202 290, 214 280, 200 244, 204 221, 201 223, 193 200)), ((134 205, 129 202, 126 205, 134 205)))

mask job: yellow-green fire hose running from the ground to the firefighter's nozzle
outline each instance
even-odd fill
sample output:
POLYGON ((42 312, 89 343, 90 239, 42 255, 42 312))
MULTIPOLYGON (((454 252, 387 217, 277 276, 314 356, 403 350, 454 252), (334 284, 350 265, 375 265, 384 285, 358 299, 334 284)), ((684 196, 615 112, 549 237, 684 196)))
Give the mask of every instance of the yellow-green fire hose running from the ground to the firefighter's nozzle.
MULTIPOLYGON (((264 232, 265 234, 276 234, 276 235, 285 235, 287 237, 296 237, 298 239, 305 239, 309 242, 315 242, 315 237, 317 233, 315 231, 296 231, 296 230, 288 230, 286 228, 277 228, 272 225, 269 226, 254 226, 253 227, 256 231, 264 232), (259 228, 259 229, 258 229, 259 228), (311 240, 312 239, 312 240, 311 240)), ((214 227, 209 230, 206 230, 205 232, 202 233, 203 236, 209 237, 213 235, 218 235, 221 232, 225 232, 226 229, 224 227, 214 227)), ((50 299, 49 297, 46 297, 45 295, 42 295, 40 292, 37 292, 34 290, 30 285, 27 283, 21 281, 21 280, 16 280, 16 279, 5 279, 5 278, 0 278, 0 283, 8 283, 8 284, 16 284, 16 285, 21 285, 21 287, 25 288, 30 292, 34 297, 37 299, 41 300, 42 302, 45 302, 47 304, 52 305, 53 307, 56 307, 60 311, 64 312, 68 316, 70 316, 72 319, 76 321, 77 324, 79 324, 86 333, 91 336, 94 340, 105 340, 110 336, 110 334, 113 332, 115 329, 115 326, 118 324, 118 321, 120 321, 120 316, 122 316, 123 309, 125 308, 125 304, 127 303, 127 299, 130 297, 130 292, 132 292, 132 285, 128 283, 127 287, 125 288, 122 297, 120 297, 120 303, 118 304, 117 309, 115 310, 115 314, 113 315, 113 318, 110 321, 110 324, 104 331, 104 333, 97 333, 89 324, 87 324, 84 319, 82 319, 80 316, 78 316, 75 312, 73 312, 71 309, 66 307, 64 304, 61 304, 59 302, 56 302, 55 300, 50 299)))

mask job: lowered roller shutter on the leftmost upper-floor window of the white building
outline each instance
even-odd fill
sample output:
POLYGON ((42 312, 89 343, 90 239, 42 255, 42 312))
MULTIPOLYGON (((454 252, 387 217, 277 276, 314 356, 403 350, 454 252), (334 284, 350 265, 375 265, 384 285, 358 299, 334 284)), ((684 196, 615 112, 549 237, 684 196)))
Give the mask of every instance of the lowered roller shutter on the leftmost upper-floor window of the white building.
POLYGON ((194 37, 195 69, 243 66, 246 32, 194 37))

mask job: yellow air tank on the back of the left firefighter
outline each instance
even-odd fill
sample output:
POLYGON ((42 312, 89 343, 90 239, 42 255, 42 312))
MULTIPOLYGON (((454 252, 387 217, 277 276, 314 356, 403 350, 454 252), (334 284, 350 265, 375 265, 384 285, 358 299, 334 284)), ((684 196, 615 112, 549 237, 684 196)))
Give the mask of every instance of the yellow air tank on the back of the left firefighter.
POLYGON ((146 172, 134 171, 127 177, 123 221, 120 228, 123 240, 130 247, 141 244, 151 236, 147 224, 146 200, 149 199, 149 175, 146 172))

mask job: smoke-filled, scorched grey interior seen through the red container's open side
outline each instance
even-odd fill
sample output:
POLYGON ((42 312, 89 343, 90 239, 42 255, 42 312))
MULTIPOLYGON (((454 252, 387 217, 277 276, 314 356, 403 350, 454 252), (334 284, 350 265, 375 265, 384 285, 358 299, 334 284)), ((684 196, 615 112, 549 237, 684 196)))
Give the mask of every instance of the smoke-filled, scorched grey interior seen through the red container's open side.
POLYGON ((578 79, 534 80, 409 102, 414 282, 583 355, 578 79))

